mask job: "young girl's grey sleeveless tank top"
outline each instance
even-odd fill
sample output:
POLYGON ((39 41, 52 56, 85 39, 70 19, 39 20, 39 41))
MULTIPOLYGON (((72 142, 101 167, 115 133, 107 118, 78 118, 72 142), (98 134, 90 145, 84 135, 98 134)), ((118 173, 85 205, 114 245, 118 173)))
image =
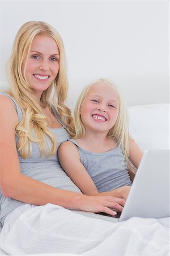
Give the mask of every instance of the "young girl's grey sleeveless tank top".
POLYGON ((80 160, 91 176, 99 192, 131 185, 124 154, 120 146, 113 150, 94 153, 83 150, 74 139, 68 139, 77 147, 80 160))

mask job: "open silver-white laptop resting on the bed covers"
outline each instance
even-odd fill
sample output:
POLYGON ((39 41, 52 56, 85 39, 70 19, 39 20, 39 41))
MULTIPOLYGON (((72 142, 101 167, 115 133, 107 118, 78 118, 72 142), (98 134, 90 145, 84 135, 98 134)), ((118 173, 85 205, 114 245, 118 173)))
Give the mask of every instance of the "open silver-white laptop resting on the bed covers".
POLYGON ((116 217, 75 209, 73 212, 114 223, 131 217, 169 217, 169 155, 170 150, 144 152, 124 209, 122 213, 118 212, 116 217))

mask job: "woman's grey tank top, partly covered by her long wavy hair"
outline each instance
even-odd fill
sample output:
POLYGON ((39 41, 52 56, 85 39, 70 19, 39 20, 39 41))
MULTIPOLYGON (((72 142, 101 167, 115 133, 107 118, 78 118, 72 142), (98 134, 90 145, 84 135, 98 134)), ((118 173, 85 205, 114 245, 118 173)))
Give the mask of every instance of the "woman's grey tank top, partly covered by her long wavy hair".
MULTIPOLYGON (((0 94, 3 94, 11 99, 12 103, 15 106, 16 113, 18 114, 18 121, 20 121, 23 117, 23 114, 22 110, 19 108, 19 105, 12 97, 8 96, 8 94, 0 94)), ((55 110, 55 114, 57 116, 58 121, 61 122, 57 110, 55 110)), ((62 142, 67 141, 67 139, 69 139, 69 134, 67 133, 64 125, 61 128, 50 130, 56 137, 57 148, 62 142)), ((18 138, 16 136, 16 142, 17 141, 18 138)), ((50 139, 48 143, 51 143, 50 139)), ((62 170, 58 161, 57 153, 53 156, 50 156, 49 158, 45 158, 44 155, 40 157, 39 145, 37 143, 32 143, 32 156, 28 157, 27 159, 23 159, 18 152, 18 158, 20 163, 20 171, 24 175, 32 177, 33 179, 39 180, 55 188, 66 189, 69 191, 81 193, 80 189, 76 187, 73 181, 71 181, 70 177, 68 177, 62 170)), ((2 222, 2 225, 6 215, 23 204, 23 202, 3 196, 0 190, 0 222, 2 222)))

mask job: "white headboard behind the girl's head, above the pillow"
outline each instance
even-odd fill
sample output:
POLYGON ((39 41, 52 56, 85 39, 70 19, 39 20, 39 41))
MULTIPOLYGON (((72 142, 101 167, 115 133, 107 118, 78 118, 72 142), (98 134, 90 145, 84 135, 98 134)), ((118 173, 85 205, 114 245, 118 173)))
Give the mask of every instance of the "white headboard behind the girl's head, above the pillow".
MULTIPOLYGON (((101 77, 96 77, 96 79, 101 77)), ((131 79, 112 79, 125 98, 128 106, 160 104, 169 102, 169 85, 168 79, 142 79, 132 77, 131 79)), ((69 79, 69 92, 67 97, 67 105, 73 111, 75 102, 82 91, 83 87, 94 81, 94 78, 69 79)), ((8 88, 6 81, 0 81, 0 92, 8 88)))

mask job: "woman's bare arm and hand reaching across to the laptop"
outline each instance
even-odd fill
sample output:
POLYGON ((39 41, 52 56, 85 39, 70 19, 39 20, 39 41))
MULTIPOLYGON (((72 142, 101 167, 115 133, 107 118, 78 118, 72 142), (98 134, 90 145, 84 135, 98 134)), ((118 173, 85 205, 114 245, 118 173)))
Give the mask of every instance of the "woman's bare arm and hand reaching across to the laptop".
POLYGON ((86 196, 57 189, 20 172, 15 142, 18 115, 11 100, 0 96, 0 187, 4 196, 24 203, 44 205, 53 203, 65 208, 114 214, 109 208, 122 210, 125 201, 114 197, 86 196), (109 208, 108 208, 109 207, 109 208))

